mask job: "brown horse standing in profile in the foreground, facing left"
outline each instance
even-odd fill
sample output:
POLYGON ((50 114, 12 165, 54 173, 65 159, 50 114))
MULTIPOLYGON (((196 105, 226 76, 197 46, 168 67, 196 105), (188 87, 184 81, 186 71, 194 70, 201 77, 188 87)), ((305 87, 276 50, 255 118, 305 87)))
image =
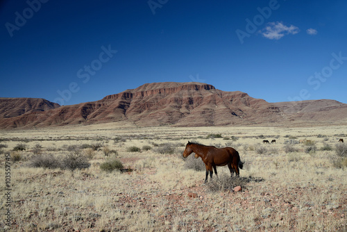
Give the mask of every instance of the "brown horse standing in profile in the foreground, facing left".
MULTIPOLYGON (((216 166, 228 165, 230 174, 232 176, 233 172, 239 176, 239 168, 242 169, 244 163, 239 158, 239 152, 237 152, 232 147, 217 148, 214 146, 205 146, 203 144, 198 144, 194 142, 189 142, 185 146, 185 151, 183 152, 183 157, 187 158, 190 154, 195 153, 197 156, 201 157, 203 163, 206 166, 206 178, 205 183, 208 182, 208 174, 210 173, 210 178, 212 178, 212 167, 214 169, 214 174, 217 175, 216 166)), ((195 157, 196 157, 195 155, 195 157)))

